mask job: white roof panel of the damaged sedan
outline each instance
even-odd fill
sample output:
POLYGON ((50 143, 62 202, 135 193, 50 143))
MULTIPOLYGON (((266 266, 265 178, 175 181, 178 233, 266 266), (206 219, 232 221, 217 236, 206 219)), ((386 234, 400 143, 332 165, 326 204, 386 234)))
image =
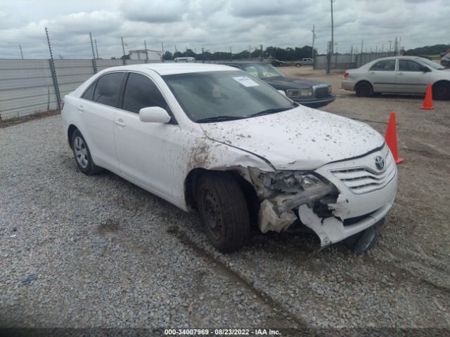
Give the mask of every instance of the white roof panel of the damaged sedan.
POLYGON ((164 63, 146 63, 143 65, 124 65, 114 67, 114 70, 153 70, 160 75, 186 74, 189 72, 219 72, 236 70, 226 65, 210 65, 205 63, 189 62, 164 62, 164 63))

